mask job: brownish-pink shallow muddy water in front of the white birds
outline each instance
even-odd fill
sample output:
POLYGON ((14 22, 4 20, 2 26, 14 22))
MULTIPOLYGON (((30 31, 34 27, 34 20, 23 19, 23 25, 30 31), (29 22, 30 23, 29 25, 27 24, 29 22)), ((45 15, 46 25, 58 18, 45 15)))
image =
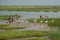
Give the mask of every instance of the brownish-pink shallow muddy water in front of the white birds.
POLYGON ((25 23, 23 24, 25 25, 25 29, 13 29, 13 30, 41 30, 41 31, 50 31, 49 27, 47 24, 40 24, 40 23, 37 23, 37 24, 34 24, 34 23, 25 23), (36 25, 36 26, 34 26, 36 25))

